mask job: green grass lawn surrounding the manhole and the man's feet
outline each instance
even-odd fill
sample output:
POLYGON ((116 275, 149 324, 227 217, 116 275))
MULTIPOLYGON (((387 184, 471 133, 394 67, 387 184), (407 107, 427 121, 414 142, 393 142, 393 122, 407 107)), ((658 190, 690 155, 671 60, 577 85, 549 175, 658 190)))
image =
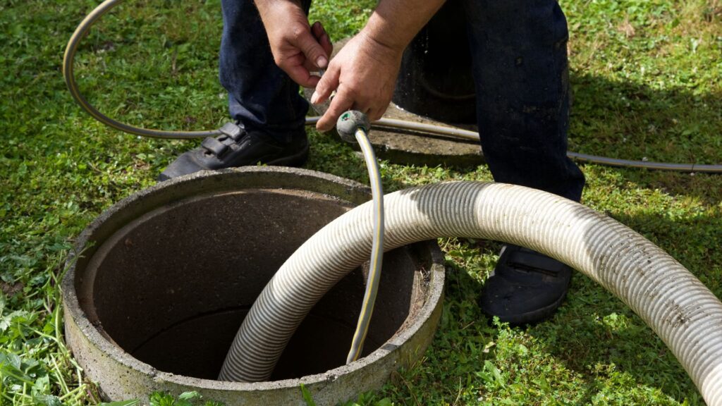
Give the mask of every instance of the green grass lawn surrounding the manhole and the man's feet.
MULTIPOLYGON (((0 0, 0 404, 100 402, 61 344, 64 258, 100 212, 155 183, 175 155, 197 144, 112 131, 71 100, 62 53, 96 4, 0 0)), ((319 0, 312 14, 338 40, 358 30, 374 4, 319 0)), ((226 115, 219 7, 219 0, 142 0, 108 14, 77 58, 83 92, 131 124, 219 126, 226 115)), ((571 150, 722 163, 721 1, 563 0, 562 7, 571 31, 571 150)), ((308 168, 367 180, 349 147, 310 137, 308 168)), ((722 296, 721 176, 583 170, 584 203, 638 230, 722 296)), ((383 163, 382 172, 388 190, 491 178, 483 165, 383 163)), ((552 321, 490 325, 475 298, 499 244, 440 243, 448 285, 435 340, 422 361, 360 404, 703 405, 661 340, 588 278, 574 277, 552 321)), ((159 405, 198 400, 156 396, 159 405)))

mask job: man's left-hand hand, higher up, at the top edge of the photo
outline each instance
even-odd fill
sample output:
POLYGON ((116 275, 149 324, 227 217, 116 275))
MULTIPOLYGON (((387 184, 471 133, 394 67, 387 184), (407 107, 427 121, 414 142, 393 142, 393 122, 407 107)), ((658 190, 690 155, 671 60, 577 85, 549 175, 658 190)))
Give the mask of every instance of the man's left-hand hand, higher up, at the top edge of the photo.
POLYGON ((256 1, 271 44, 274 61, 294 82, 315 87, 318 71, 329 64, 333 50, 321 22, 308 25, 308 17, 293 0, 256 1))

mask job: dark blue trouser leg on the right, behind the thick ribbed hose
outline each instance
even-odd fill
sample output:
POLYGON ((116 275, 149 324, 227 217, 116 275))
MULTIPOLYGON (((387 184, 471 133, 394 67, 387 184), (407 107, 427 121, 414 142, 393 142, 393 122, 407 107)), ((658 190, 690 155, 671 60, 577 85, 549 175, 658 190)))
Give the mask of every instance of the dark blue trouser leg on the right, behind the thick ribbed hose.
POLYGON ((495 181, 579 201, 584 176, 566 156, 568 32, 562 9, 555 0, 461 1, 479 136, 495 181))

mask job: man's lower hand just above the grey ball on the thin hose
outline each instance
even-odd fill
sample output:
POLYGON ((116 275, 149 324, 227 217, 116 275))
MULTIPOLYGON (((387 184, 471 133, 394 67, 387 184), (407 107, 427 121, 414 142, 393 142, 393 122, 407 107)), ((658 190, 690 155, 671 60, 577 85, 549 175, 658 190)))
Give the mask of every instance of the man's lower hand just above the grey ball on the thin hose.
POLYGON ((339 51, 316 85, 311 103, 323 103, 336 95, 318 120, 318 131, 334 128, 336 119, 349 109, 378 120, 391 102, 404 48, 391 48, 373 40, 363 31, 339 51))

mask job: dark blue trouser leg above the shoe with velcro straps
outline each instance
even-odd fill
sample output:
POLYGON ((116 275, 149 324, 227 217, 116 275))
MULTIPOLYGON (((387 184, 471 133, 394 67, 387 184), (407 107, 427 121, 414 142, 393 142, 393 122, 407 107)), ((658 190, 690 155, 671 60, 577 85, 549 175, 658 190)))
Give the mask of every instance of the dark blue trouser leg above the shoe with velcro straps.
MULTIPOLYGON (((303 1, 308 12, 310 0, 303 1)), ((219 76, 228 91, 230 116, 280 142, 303 128, 308 103, 274 63, 268 36, 253 0, 222 0, 219 76)))

